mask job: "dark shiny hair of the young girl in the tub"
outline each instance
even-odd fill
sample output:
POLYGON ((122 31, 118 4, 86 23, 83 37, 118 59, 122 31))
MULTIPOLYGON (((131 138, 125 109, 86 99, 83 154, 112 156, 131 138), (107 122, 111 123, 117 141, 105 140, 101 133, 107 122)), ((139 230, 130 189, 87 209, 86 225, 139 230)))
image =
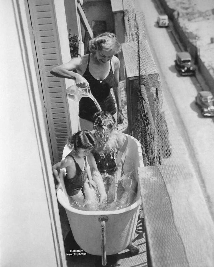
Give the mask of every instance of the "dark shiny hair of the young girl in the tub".
POLYGON ((77 150, 78 148, 95 149, 97 142, 90 131, 84 130, 68 137, 67 146, 74 150, 77 150))

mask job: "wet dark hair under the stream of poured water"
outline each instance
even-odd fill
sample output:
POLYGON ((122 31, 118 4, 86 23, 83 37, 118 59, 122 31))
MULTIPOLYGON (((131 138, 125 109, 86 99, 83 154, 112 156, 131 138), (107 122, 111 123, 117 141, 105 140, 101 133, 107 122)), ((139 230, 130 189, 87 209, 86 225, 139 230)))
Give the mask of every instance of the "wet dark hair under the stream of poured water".
POLYGON ((99 112, 95 113, 93 116, 94 130, 97 127, 103 128, 105 130, 114 129, 116 125, 113 115, 109 112, 104 112, 103 114, 100 114, 99 112))

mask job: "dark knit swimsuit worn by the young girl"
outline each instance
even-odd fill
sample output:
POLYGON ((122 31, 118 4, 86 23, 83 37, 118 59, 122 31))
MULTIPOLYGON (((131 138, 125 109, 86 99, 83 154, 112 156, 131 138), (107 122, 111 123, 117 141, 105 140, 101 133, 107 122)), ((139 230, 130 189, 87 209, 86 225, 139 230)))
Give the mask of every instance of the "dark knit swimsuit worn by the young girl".
POLYGON ((69 196, 74 196, 77 193, 79 193, 79 190, 83 188, 83 184, 85 183, 87 179, 87 173, 86 173, 86 167, 87 167, 87 162, 85 158, 85 168, 84 171, 82 171, 79 167, 79 164, 76 163, 76 160, 74 157, 70 154, 68 154, 66 157, 72 157, 74 160, 75 166, 76 166, 76 175, 72 179, 67 178, 67 174, 65 176, 65 189, 67 191, 67 194, 69 196))

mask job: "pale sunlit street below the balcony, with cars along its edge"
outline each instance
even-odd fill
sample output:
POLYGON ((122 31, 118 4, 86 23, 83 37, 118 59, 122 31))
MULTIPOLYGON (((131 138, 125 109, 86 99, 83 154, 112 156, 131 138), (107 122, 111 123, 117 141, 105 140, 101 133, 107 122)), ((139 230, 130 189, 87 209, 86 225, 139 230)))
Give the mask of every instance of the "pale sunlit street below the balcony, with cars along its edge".
POLYGON ((160 13, 157 4, 151 0, 135 1, 135 4, 145 14, 146 39, 160 75, 163 110, 172 147, 177 151, 181 149, 178 135, 175 135, 178 132, 214 221, 214 120, 212 117, 203 117, 195 104, 197 92, 207 90, 207 87, 201 88, 201 83, 195 77, 181 77, 175 69, 174 60, 180 48, 172 38, 170 27, 157 26, 160 13), (172 120, 174 123, 171 123, 172 120))

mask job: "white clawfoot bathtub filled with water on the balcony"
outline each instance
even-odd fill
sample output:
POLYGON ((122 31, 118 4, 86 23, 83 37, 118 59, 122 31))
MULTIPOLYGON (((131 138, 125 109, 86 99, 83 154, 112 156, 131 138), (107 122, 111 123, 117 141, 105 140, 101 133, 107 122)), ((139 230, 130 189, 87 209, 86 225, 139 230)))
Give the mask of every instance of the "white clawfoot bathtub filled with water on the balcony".
MULTIPOLYGON (((127 135, 128 149, 124 170, 129 169, 128 160, 131 158, 135 165, 135 179, 138 181, 137 167, 143 167, 141 145, 134 137, 127 135)), ((66 146, 63 158, 70 152, 66 146)), ((60 178, 64 181, 65 172, 60 171, 60 178)), ((141 204, 140 188, 138 185, 136 202, 129 207, 116 211, 82 211, 71 207, 65 190, 57 191, 57 199, 65 208, 68 221, 76 243, 85 252, 92 255, 102 255, 101 251, 101 215, 108 217, 105 223, 105 250, 106 255, 116 254, 132 244, 137 225, 141 204)))

